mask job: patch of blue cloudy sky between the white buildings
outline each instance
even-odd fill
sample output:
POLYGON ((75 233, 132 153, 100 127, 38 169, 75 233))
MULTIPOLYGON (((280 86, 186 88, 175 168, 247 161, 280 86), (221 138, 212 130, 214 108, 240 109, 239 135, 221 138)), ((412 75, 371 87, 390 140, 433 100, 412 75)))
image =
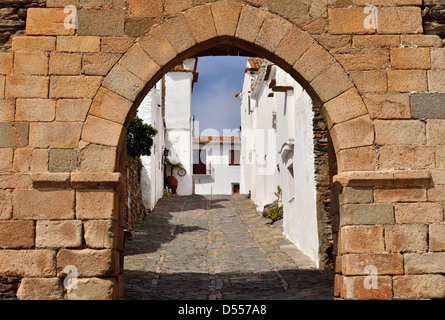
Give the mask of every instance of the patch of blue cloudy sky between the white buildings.
POLYGON ((242 89, 246 63, 247 57, 198 59, 199 78, 192 96, 192 114, 195 121, 199 121, 199 132, 196 132, 198 128, 195 127, 196 136, 227 135, 224 129, 239 129, 240 101, 235 98, 235 94, 242 89), (208 128, 217 132, 205 130, 208 128))

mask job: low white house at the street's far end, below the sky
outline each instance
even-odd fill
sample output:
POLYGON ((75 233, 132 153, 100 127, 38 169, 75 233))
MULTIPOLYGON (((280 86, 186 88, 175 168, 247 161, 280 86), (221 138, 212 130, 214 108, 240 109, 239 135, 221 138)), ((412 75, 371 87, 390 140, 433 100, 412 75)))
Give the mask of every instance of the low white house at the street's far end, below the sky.
POLYGON ((239 137, 194 137, 194 193, 201 195, 240 193, 240 153, 239 137))

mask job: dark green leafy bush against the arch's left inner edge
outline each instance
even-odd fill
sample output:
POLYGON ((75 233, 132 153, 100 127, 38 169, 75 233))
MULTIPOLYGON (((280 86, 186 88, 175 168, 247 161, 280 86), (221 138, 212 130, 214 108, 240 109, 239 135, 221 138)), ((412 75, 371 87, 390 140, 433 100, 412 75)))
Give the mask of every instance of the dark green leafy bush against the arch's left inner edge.
POLYGON ((127 132, 127 155, 130 158, 150 156, 153 146, 153 137, 158 130, 145 124, 137 115, 133 117, 127 132))

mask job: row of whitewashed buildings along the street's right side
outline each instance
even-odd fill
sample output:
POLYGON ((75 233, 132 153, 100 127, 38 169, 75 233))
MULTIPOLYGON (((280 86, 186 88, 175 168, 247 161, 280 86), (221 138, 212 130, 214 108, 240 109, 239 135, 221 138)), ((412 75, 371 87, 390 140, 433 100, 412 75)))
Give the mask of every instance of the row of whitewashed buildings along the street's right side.
POLYGON ((273 63, 249 58, 241 101, 241 192, 258 210, 280 186, 284 235, 319 266, 312 101, 273 63))

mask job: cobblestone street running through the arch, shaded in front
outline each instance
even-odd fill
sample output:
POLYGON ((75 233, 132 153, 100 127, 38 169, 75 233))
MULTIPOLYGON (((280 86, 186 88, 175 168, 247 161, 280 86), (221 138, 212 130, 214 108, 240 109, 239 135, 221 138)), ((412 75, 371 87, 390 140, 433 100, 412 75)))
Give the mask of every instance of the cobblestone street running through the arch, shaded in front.
POLYGON ((264 222, 241 195, 161 199, 126 240, 125 299, 332 299, 332 272, 264 222))

